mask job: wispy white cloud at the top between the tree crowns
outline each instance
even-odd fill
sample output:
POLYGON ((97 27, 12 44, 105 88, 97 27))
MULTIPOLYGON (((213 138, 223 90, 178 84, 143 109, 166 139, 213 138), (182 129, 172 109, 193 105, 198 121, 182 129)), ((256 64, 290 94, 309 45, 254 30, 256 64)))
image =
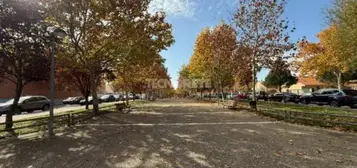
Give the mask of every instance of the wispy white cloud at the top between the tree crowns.
POLYGON ((163 10, 168 15, 191 18, 195 15, 196 3, 194 0, 152 0, 149 5, 149 12, 163 10))

